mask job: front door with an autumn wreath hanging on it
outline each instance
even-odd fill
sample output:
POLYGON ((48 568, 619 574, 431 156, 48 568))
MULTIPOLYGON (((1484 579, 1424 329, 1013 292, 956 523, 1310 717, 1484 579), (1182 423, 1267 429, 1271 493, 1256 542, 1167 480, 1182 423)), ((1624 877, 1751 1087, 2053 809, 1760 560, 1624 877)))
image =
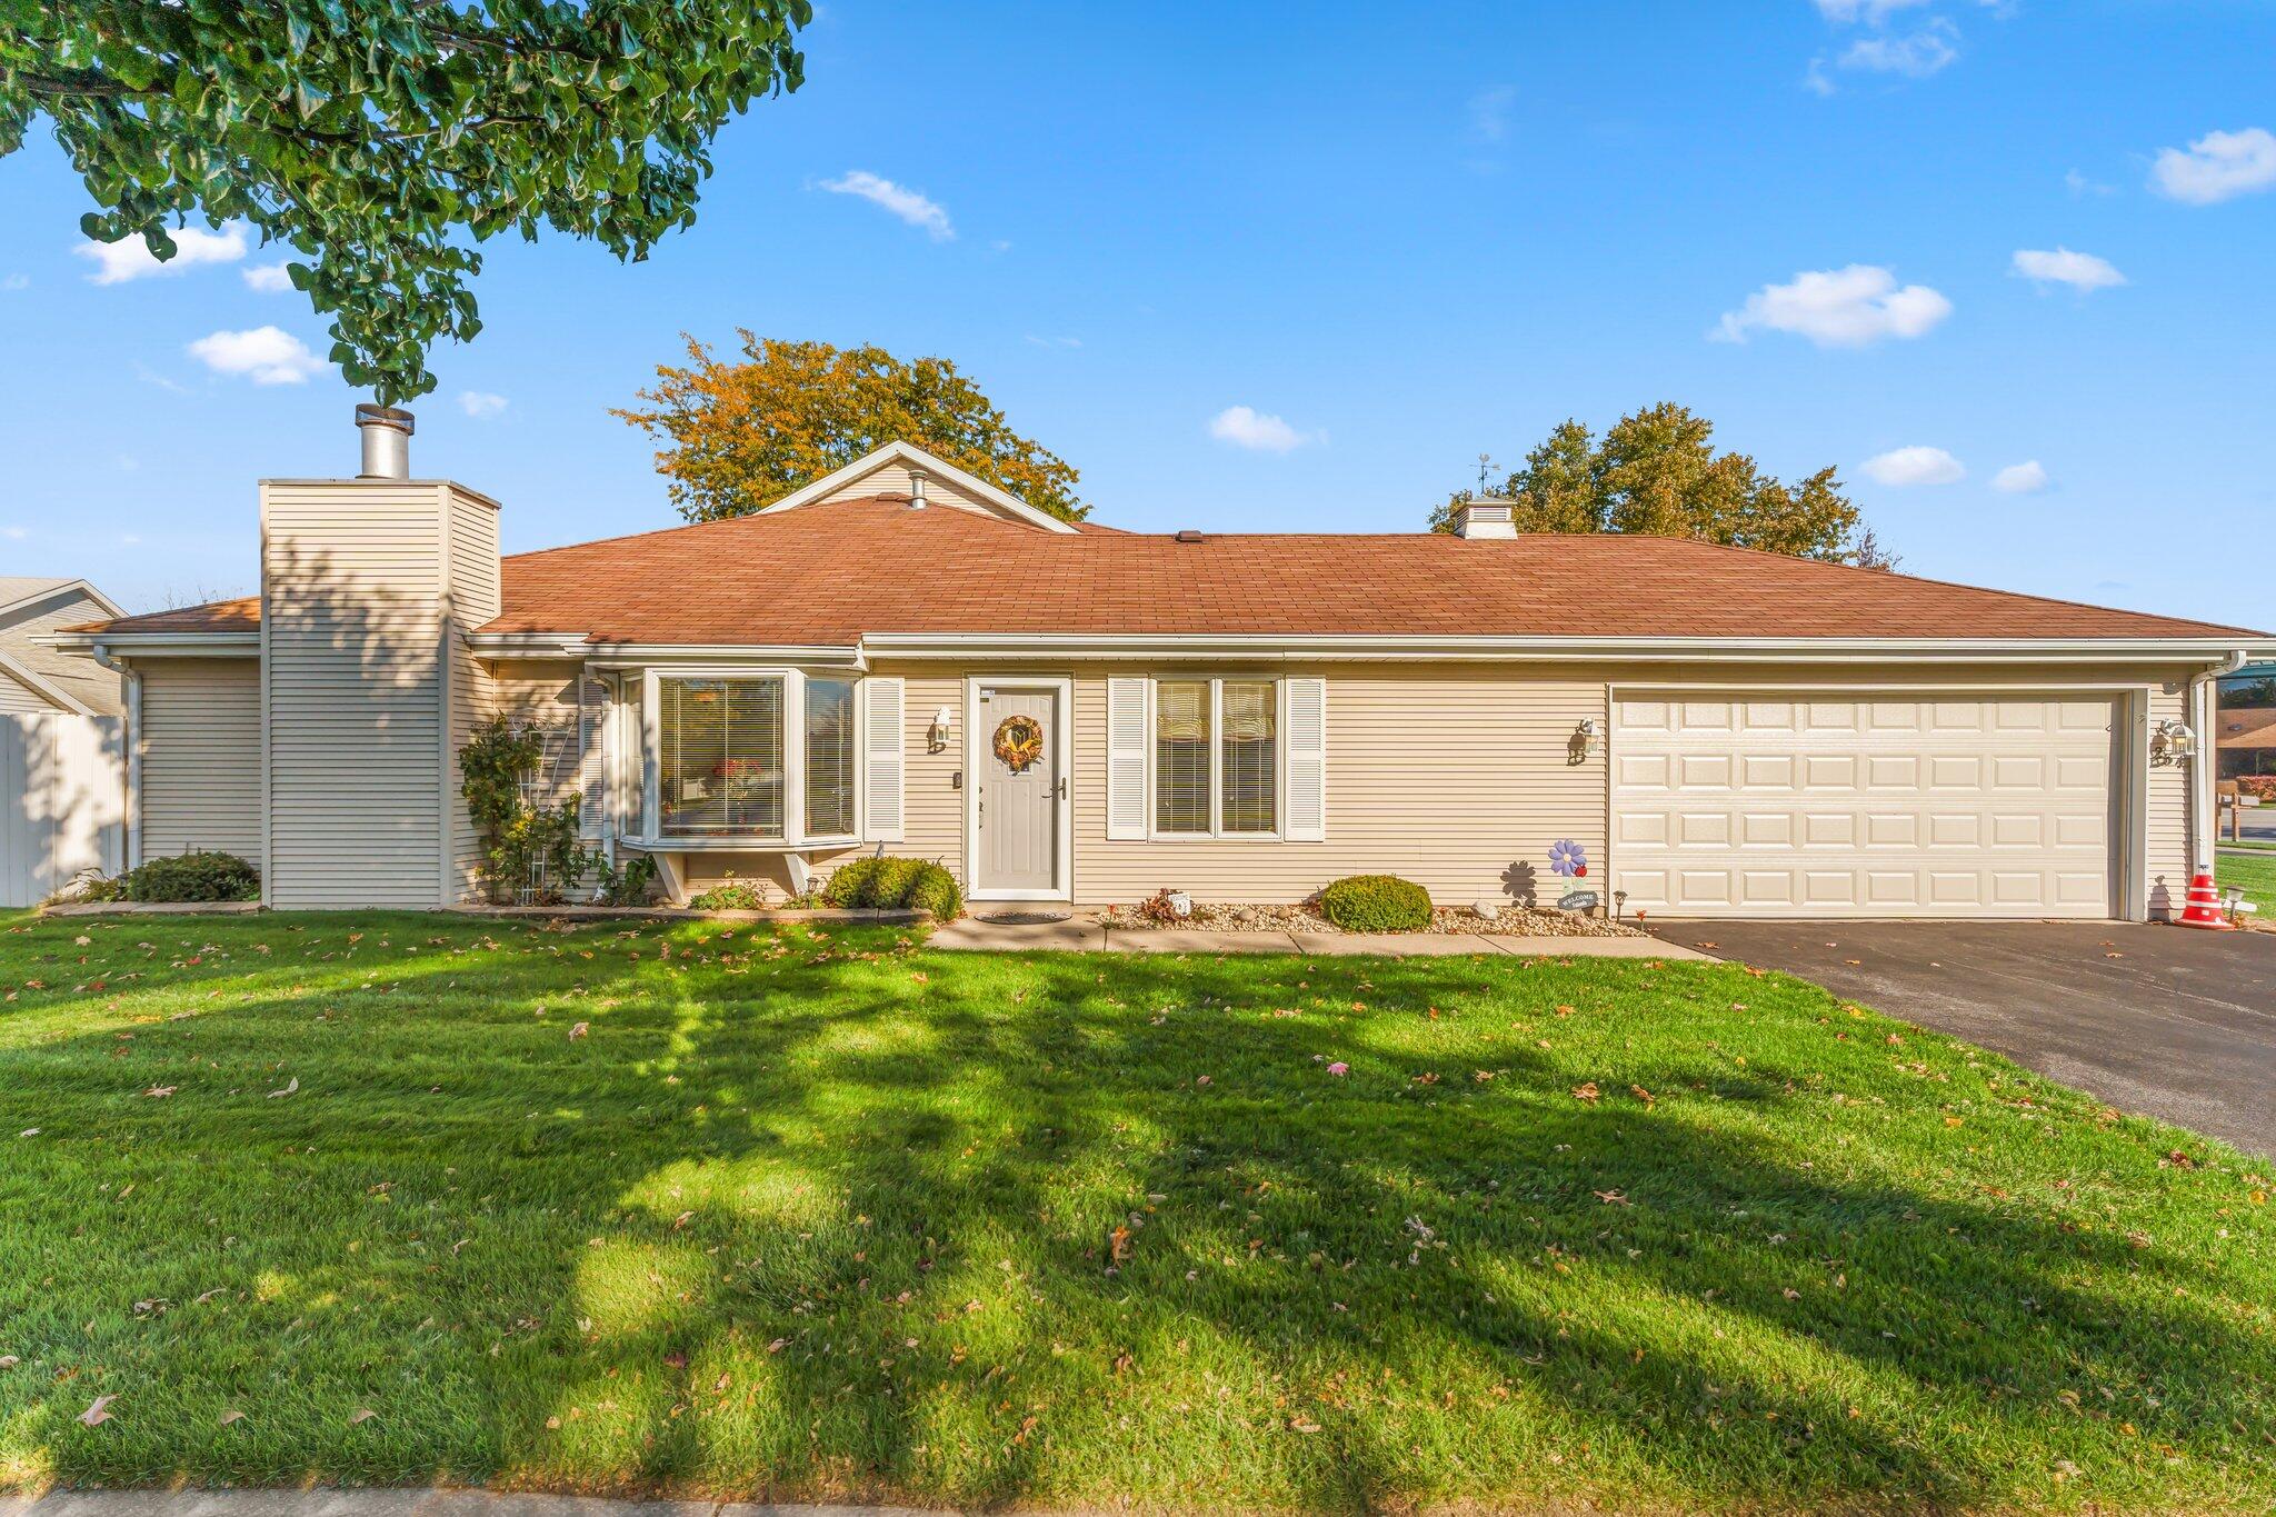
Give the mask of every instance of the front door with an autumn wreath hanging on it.
POLYGON ((972 894, 1067 898, 1067 689, 976 680, 972 732, 972 894))

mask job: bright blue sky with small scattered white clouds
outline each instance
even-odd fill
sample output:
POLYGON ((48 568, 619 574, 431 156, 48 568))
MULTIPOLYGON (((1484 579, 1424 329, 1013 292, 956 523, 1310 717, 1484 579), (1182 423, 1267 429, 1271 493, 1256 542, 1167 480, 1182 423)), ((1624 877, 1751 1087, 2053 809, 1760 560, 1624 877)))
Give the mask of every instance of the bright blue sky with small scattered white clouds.
MULTIPOLYGON (((674 523, 605 412, 747 325, 956 359, 1115 525, 1416 528, 1682 400, 1910 573, 2276 623, 2267 2, 833 0, 806 48, 646 264, 492 246, 414 462, 510 548, 674 523)), ((355 459, 280 252, 107 268, 43 134, 0 205, 0 571, 248 589, 253 482, 355 459)))

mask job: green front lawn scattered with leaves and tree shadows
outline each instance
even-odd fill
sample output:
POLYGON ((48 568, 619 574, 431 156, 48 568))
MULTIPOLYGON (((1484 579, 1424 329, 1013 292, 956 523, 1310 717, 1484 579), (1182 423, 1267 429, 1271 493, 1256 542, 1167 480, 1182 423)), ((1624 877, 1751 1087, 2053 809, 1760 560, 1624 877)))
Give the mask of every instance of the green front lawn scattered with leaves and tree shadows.
POLYGON ((14 919, 0 1487, 2267 1510, 2267 1169, 1718 964, 14 919))

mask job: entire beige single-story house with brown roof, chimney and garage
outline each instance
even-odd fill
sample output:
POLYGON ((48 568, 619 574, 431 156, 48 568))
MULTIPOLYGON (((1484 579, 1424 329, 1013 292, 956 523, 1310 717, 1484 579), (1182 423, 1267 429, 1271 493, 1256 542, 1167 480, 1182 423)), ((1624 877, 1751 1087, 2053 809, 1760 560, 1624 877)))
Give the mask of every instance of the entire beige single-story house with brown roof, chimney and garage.
POLYGON ((2153 917, 2212 846, 2212 680, 2267 635, 1655 537, 1138 534, 908 446, 756 516, 498 555, 360 407, 259 487, 262 591, 91 623, 139 855, 278 907, 476 892, 455 751, 560 735, 676 896, 865 851, 972 901, 1595 892, 1668 917, 2153 917), (1586 873, 1575 873, 1580 867, 1586 873))

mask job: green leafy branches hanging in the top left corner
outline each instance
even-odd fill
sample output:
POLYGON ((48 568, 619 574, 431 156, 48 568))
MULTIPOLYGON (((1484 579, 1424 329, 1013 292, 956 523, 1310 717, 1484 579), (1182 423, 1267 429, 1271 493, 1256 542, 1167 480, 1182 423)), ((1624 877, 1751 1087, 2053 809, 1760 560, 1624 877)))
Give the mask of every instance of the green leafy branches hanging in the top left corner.
POLYGON ((542 227, 646 257, 710 141, 797 89, 808 0, 0 0, 0 155, 46 116, 100 207, 175 252, 250 223, 298 252, 332 362, 382 403, 483 330, 469 246, 542 227))

